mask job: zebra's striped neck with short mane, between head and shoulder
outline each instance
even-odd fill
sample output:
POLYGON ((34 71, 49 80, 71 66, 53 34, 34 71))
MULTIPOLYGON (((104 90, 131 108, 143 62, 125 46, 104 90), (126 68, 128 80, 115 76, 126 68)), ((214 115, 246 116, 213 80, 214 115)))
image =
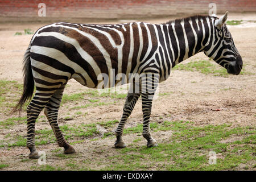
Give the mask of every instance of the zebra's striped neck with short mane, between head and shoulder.
POLYGON ((189 57, 209 49, 213 39, 213 20, 210 16, 193 16, 166 24, 170 37, 172 67, 189 57))

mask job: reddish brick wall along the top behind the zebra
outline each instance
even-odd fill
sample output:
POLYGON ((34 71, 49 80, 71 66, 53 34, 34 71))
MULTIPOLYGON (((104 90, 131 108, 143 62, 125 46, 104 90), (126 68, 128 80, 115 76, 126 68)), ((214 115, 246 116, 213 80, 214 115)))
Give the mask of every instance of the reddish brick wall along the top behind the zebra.
POLYGON ((0 0, 0 18, 152 18, 156 16, 208 14, 209 3, 217 13, 255 12, 256 0, 0 0), (46 17, 38 16, 38 4, 46 4, 46 17))

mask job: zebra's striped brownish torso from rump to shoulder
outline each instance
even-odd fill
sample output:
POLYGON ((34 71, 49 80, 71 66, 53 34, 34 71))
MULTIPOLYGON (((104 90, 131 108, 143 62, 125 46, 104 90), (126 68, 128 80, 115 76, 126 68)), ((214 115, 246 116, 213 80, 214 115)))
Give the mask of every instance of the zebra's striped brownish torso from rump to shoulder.
MULTIPOLYGON (((53 23, 33 36, 31 64, 35 77, 40 74, 49 81, 75 78, 96 88, 102 73, 115 78, 124 74, 125 83, 129 82, 129 73, 143 72, 157 48, 153 24, 53 23)), ((114 79, 114 85, 118 81, 114 79)))

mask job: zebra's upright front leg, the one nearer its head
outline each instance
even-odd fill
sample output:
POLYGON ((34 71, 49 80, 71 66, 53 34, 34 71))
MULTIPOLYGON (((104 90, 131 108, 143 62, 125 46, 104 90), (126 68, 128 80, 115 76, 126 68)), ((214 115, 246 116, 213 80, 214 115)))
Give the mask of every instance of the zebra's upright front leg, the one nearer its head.
POLYGON ((152 108, 152 97, 154 94, 142 93, 142 112, 143 112, 143 137, 147 140, 147 147, 156 147, 158 143, 151 137, 150 133, 150 114, 152 108))

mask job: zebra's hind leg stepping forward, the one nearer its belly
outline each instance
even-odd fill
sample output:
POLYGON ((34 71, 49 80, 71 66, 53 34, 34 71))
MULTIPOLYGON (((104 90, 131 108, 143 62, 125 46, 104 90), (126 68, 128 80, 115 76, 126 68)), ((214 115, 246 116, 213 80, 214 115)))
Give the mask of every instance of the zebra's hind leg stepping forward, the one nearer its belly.
POLYGON ((57 143, 60 147, 64 147, 64 153, 74 154, 76 153, 75 149, 65 140, 57 123, 57 116, 64 88, 65 84, 63 84, 59 89, 56 90, 56 92, 53 94, 46 107, 44 108, 44 114, 46 115, 49 124, 52 127, 52 131, 57 139, 57 143))

